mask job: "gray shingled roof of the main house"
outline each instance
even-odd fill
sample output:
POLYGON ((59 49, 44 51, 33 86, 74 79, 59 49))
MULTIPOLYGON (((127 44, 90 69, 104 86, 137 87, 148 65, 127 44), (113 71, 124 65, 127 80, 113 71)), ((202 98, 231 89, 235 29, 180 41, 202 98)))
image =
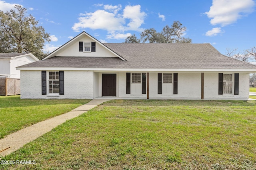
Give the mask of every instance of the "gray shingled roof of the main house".
POLYGON ((220 54, 210 44, 104 43, 116 57, 52 57, 20 67, 256 69, 220 54))

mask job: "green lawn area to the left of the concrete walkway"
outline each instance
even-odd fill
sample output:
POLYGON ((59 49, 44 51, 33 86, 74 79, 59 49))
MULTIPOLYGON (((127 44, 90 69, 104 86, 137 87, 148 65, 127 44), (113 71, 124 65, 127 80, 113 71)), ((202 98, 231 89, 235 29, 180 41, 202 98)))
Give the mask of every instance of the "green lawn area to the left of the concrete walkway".
POLYGON ((89 101, 20 99, 20 96, 0 96, 0 139, 34 123, 66 113, 89 101))

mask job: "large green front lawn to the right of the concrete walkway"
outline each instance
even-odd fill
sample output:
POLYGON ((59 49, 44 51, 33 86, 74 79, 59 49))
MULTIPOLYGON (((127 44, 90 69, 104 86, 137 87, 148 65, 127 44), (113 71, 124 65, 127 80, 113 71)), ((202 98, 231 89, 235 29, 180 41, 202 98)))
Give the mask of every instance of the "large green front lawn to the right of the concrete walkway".
POLYGON ((256 167, 255 101, 113 100, 5 160, 5 169, 233 169, 256 167))

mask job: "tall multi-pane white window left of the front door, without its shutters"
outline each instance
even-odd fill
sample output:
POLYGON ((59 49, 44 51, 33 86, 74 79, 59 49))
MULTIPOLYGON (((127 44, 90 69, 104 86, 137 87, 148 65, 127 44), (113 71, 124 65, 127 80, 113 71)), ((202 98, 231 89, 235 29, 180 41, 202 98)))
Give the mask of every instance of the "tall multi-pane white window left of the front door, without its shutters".
POLYGON ((49 94, 60 92, 60 79, 58 71, 49 71, 49 94))

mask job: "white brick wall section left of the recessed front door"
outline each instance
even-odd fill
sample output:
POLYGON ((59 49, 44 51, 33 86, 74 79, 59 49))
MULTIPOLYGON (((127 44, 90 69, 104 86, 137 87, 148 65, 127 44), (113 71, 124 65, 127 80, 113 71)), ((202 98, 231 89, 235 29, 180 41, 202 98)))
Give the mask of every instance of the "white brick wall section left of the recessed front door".
POLYGON ((92 71, 64 71, 64 95, 42 95, 41 71, 21 70, 21 98, 92 99, 92 73, 92 71))

